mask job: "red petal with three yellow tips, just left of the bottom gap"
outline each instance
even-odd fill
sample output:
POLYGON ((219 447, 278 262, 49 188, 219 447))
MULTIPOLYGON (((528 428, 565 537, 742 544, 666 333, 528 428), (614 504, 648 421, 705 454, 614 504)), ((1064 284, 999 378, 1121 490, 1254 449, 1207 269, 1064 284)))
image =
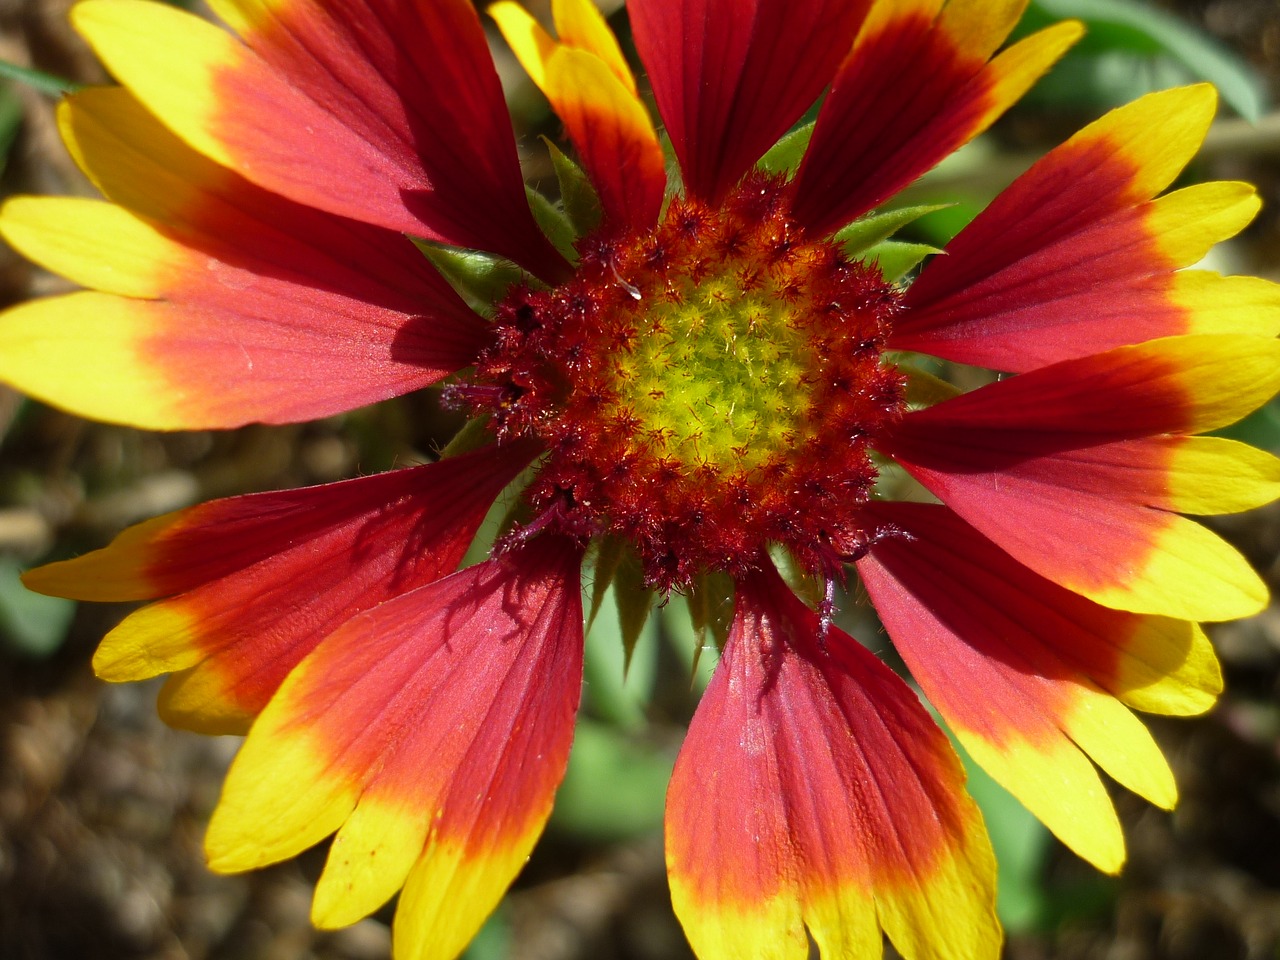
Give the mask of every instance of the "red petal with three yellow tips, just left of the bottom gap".
POLYGON ((398 956, 451 960, 550 813, 581 686, 581 550, 539 538, 388 600, 289 676, 232 764, 206 838, 244 870, 338 831, 320 927, 402 884, 398 956))

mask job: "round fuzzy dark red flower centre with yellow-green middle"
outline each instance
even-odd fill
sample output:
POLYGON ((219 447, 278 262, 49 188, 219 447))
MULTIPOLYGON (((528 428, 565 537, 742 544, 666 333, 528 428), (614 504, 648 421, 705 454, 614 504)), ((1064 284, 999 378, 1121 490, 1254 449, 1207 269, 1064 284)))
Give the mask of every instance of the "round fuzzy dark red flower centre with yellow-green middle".
POLYGON ((901 416, 881 357, 897 302, 753 177, 719 209, 676 200, 650 232, 588 238, 573 279, 509 294, 472 396, 499 438, 547 444, 532 506, 630 539, 650 585, 745 572, 769 543, 817 571, 855 549, 868 447, 901 416))

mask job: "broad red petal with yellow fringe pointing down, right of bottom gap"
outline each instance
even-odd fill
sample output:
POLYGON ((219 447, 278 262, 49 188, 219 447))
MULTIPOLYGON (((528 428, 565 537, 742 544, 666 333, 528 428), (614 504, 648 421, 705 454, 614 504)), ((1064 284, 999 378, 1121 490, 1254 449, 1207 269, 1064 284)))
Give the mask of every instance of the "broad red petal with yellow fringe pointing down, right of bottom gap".
POLYGON ((915 695, 772 567, 739 585, 667 797, 672 901, 699 956, 995 957, 995 864, 915 695))

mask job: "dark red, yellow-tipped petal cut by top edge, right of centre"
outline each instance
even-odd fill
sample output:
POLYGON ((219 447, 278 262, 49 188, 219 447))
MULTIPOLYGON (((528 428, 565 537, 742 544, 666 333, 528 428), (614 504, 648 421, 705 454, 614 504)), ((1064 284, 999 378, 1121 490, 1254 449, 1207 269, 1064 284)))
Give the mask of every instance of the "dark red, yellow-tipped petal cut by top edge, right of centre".
POLYGON ((796 173, 796 219, 833 233, 1007 110, 1082 33, 1060 23, 989 59, 1025 6, 878 0, 818 114, 796 173))

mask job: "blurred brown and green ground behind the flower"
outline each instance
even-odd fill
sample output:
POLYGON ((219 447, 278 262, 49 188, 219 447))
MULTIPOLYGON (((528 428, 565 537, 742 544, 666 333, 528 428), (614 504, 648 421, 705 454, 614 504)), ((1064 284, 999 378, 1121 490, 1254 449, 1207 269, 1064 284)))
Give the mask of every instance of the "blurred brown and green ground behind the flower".
MULTIPOLYGON (((67 27, 68 8, 69 0, 0 0, 4 196, 92 192, 52 122, 63 81, 106 79, 67 27)), ((625 33, 618 8, 605 4, 625 33)), ((1184 182, 1247 179, 1266 202, 1210 266, 1280 280, 1280 114, 1271 113, 1280 97, 1280 1, 1034 0, 1020 29, 1064 17, 1087 20, 1088 38, 989 134, 911 189, 916 200, 952 206, 915 224, 906 242, 943 243, 1036 156, 1107 108, 1210 79, 1224 104, 1184 182)), ((550 189, 536 134, 554 136, 556 120, 500 41, 495 52, 526 173, 550 189)), ((0 305, 60 289, 63 282, 0 246, 0 305)), ((457 426, 425 392, 301 426, 157 435, 86 422, 0 387, 3 960, 387 957, 390 908, 346 931, 308 924, 323 847, 246 877, 209 873, 204 824, 238 741, 164 727, 154 709, 157 684, 93 678, 93 646, 125 605, 36 596, 18 573, 211 497, 430 460, 457 426)), ((1280 406, 1231 434, 1280 452, 1280 406)), ((1212 525, 1280 588, 1280 507, 1212 525)), ((666 890, 662 801, 714 650, 699 657, 705 640, 687 626, 682 603, 673 599, 639 634, 602 604, 556 814, 470 960, 690 956, 666 890), (626 672, 625 634, 635 644, 626 672)), ((883 652, 874 621, 846 608, 845 626, 883 652)), ((1149 721, 1178 776, 1178 810, 1115 788, 1130 850, 1121 877, 1075 859, 972 774, 1000 859, 1007 957, 1280 960, 1280 611, 1213 627, 1212 636, 1228 677, 1222 701, 1207 717, 1149 721)))

